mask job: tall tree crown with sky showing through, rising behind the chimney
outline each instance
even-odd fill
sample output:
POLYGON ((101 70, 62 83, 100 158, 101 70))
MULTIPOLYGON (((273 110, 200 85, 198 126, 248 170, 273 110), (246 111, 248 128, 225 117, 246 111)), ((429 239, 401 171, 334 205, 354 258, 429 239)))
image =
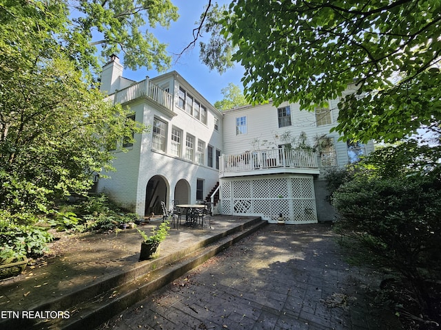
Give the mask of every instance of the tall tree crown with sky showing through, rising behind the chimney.
MULTIPOLYGON (((72 41, 88 43, 89 47, 84 49, 87 53, 83 52, 82 58, 87 54, 90 61, 95 61, 95 46, 99 45, 105 58, 123 52, 124 65, 130 69, 154 66, 161 72, 170 67, 166 45, 145 28, 146 23, 150 28, 158 24, 169 28, 170 22, 178 19, 178 8, 170 0, 76 1, 72 12, 78 17, 68 22, 71 31, 68 41, 70 45, 72 41), (145 28, 144 33, 141 28, 145 28)), ((84 67, 85 63, 81 64, 84 67)))

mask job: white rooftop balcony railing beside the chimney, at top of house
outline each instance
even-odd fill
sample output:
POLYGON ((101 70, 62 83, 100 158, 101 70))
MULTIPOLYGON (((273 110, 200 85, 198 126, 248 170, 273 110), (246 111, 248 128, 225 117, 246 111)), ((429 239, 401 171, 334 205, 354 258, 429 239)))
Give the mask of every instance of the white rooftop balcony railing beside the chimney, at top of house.
POLYGON ((173 111, 172 94, 152 83, 149 78, 134 85, 130 85, 125 89, 121 89, 121 91, 116 91, 114 94, 107 96, 105 100, 113 102, 114 104, 122 104, 135 100, 136 98, 141 98, 141 96, 147 96, 147 98, 150 98, 173 111))

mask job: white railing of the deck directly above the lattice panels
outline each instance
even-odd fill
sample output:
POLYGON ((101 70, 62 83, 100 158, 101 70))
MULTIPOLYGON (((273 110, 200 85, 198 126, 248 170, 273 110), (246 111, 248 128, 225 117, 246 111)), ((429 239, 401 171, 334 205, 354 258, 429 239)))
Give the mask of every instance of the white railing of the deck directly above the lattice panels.
POLYGON ((278 173, 319 174, 316 153, 283 147, 221 155, 219 159, 219 177, 278 173))

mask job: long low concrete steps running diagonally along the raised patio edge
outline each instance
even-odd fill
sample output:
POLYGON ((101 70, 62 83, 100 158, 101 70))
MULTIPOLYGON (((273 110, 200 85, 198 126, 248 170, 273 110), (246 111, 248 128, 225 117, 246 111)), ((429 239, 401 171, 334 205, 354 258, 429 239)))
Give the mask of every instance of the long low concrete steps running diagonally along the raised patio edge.
MULTIPOLYGON (((267 225, 267 221, 256 218, 216 236, 210 236, 178 250, 161 255, 148 263, 135 265, 116 276, 93 283, 84 289, 45 303, 35 310, 68 311, 69 318, 39 320, 25 319, 21 324, 6 324, 2 329, 96 329, 106 320, 134 305, 152 292, 171 283, 212 256, 267 225), (26 322, 26 323, 24 323, 26 322)), ((0 324, 1 325, 1 324, 0 324)))

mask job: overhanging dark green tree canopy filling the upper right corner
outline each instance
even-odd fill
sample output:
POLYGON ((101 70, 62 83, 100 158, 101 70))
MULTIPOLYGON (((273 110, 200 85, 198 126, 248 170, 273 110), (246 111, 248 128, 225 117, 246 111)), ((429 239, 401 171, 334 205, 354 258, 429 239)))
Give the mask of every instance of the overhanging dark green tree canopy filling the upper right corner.
POLYGON ((235 50, 250 102, 312 110, 341 97, 335 130, 345 140, 441 131, 440 1, 234 0, 217 22, 218 52, 235 50))

